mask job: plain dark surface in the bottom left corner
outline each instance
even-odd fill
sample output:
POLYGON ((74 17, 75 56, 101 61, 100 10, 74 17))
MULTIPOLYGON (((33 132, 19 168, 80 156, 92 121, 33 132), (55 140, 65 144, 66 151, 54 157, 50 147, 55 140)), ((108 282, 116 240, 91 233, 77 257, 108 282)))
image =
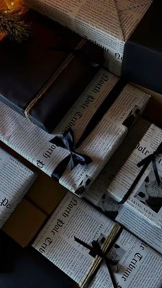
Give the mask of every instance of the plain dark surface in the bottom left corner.
POLYGON ((34 248, 22 248, 0 231, 0 287, 71 288, 74 285, 34 248))

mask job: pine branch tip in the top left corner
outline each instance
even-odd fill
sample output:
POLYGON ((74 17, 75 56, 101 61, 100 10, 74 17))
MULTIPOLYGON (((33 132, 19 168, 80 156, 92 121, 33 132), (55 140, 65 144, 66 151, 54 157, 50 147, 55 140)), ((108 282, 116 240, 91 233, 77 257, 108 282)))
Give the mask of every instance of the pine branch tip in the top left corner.
POLYGON ((12 41, 21 43, 30 36, 30 24, 21 20, 19 13, 0 12, 0 31, 8 35, 12 41))

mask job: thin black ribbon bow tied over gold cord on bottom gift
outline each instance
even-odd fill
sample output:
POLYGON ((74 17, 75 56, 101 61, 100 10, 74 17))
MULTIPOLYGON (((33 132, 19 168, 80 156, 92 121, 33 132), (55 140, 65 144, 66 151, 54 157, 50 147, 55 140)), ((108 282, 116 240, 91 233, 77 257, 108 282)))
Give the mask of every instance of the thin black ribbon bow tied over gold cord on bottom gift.
MULTIPOLYGON (((117 235, 118 235, 118 233, 117 233, 117 235)), ((111 276, 111 281, 112 281, 112 283, 113 283, 113 287, 114 287, 114 288, 117 288, 117 283, 115 282, 115 278, 114 278, 114 276, 113 276, 113 272, 111 271, 111 266, 110 266, 110 265, 115 265, 115 266, 117 266, 117 262, 109 259, 109 258, 106 256, 106 254, 108 253, 108 251, 103 252, 103 251, 102 251, 102 248, 100 247, 100 244, 99 244, 97 241, 95 241, 95 240, 92 241, 91 245, 89 245, 89 244, 85 243, 84 241, 76 238, 75 236, 74 236, 74 240, 75 240, 76 242, 78 242, 80 245, 86 247, 86 249, 90 250, 89 254, 90 254, 91 256, 93 256, 93 257, 95 257, 95 256, 100 256, 100 258, 102 258, 102 261, 104 261, 104 262, 106 263, 106 267, 108 268, 108 272, 109 272, 109 274, 110 274, 110 276, 111 276)), ((109 249, 110 249, 110 248, 109 248, 109 249)), ((108 249, 108 250, 109 250, 109 249, 108 249)), ((89 287, 91 281, 93 280, 93 278, 94 278, 94 276, 95 276, 95 274, 97 273, 97 271, 98 271, 99 268, 100 268, 100 266, 98 266, 97 269, 91 274, 91 276, 89 277, 88 282, 86 283, 86 287, 89 287)))

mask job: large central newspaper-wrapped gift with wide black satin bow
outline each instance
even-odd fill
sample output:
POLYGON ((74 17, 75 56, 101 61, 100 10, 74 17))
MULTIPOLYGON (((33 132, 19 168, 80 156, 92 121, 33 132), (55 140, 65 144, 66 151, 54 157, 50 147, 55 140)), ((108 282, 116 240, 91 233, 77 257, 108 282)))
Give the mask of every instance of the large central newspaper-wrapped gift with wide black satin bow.
POLYGON ((0 140, 82 197, 150 100, 100 69, 49 135, 0 103, 0 140))

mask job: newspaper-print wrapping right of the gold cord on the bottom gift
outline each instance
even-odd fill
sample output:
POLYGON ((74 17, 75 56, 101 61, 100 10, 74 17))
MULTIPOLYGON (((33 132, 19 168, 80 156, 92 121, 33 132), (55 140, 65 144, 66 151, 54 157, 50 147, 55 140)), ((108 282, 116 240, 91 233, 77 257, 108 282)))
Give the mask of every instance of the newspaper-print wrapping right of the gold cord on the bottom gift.
MULTIPOLYGON (((123 230, 108 253, 117 263, 114 278, 117 288, 160 288, 162 285, 162 257, 146 243, 123 230)), ((107 267, 103 263, 97 272, 90 288, 112 288, 107 267)))

